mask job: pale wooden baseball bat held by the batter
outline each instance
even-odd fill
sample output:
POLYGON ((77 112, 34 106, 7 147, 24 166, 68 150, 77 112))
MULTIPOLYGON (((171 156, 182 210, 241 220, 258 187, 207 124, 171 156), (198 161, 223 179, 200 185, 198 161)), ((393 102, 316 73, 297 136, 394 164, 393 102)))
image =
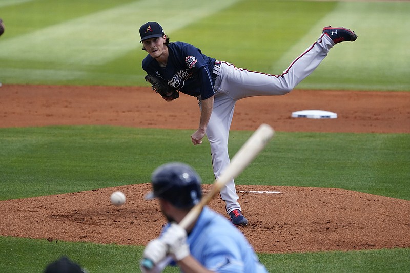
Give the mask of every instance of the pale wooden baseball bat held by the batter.
MULTIPOLYGON (((179 222, 179 225, 187 229, 199 216, 202 208, 206 206, 209 201, 225 186, 232 178, 236 178, 243 172, 245 167, 259 154, 265 147, 268 141, 274 136, 275 131, 268 124, 261 124, 259 128, 252 134, 252 136, 243 144, 239 151, 231 160, 231 164, 222 172, 211 188, 211 191, 203 196, 201 201, 196 204, 191 211, 179 222)), ((168 261, 170 259, 168 258, 168 261)), ((167 266, 168 262, 161 262, 161 266, 157 266, 156 272, 161 272, 167 266), (165 264, 165 265, 164 265, 165 264), (162 267, 162 268, 158 268, 162 267)), ((147 259, 141 263, 146 269, 151 270, 155 265, 147 259)))

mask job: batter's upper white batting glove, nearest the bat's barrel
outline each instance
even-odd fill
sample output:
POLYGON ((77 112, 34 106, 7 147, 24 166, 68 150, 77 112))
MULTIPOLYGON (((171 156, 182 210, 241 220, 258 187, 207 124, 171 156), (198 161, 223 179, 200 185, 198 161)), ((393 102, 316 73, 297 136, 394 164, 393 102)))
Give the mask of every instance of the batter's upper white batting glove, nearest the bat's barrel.
POLYGON ((191 254, 187 244, 187 232, 176 223, 171 224, 162 235, 161 240, 168 246, 168 253, 173 255, 176 261, 191 254))

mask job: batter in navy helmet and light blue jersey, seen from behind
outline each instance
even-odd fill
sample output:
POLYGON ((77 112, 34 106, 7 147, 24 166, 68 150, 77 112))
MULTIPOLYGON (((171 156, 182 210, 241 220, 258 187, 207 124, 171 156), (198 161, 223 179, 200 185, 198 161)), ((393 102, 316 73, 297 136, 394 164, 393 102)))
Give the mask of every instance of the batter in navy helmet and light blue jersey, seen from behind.
POLYGON ((143 262, 142 272, 161 272, 161 261, 169 255, 171 265, 176 263, 186 273, 268 273, 240 230, 208 206, 187 230, 177 224, 202 198, 201 179, 191 166, 163 164, 152 173, 151 185, 146 199, 158 200, 168 223, 160 237, 147 244, 142 261, 148 260, 154 267, 146 269, 143 262))

